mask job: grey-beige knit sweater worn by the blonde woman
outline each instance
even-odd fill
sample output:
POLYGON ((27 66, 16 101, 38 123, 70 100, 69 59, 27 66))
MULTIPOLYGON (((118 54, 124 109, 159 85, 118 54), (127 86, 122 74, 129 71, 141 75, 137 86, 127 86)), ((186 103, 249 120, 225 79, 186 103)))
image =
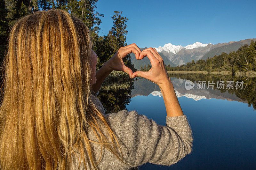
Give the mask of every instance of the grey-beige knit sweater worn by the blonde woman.
MULTIPOLYGON (((95 104, 105 115, 104 107, 95 97, 95 104)), ((156 113, 157 114, 157 113, 156 113)), ((145 115, 136 111, 121 110, 118 113, 105 115, 110 127, 115 133, 123 153, 124 164, 110 151, 103 147, 98 169, 137 169, 137 166, 147 162, 159 165, 172 165, 184 158, 192 150, 192 131, 186 115, 177 117, 166 116, 166 126, 156 124, 145 115), (129 165, 127 165, 129 164, 129 165)), ((103 134, 107 134, 106 131, 103 134)), ((89 139, 98 141, 92 129, 88 130, 89 139)), ((92 143, 93 157, 99 161, 100 144, 92 143)), ((120 157, 121 152, 117 149, 120 157)), ((80 155, 78 155, 80 159, 80 155)), ((94 169, 85 151, 87 169, 94 169)), ((72 166, 78 169, 79 160, 72 158, 72 166)), ((70 167, 70 169, 72 169, 70 167)), ((83 160, 80 168, 85 169, 83 160)))

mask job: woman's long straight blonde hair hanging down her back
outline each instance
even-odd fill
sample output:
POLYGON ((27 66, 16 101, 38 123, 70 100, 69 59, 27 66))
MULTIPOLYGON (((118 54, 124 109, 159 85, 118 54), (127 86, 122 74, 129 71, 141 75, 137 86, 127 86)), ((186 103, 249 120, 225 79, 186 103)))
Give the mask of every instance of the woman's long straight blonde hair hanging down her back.
POLYGON ((105 146, 119 158, 117 139, 92 102, 91 48, 89 29, 63 10, 37 11, 12 26, 0 108, 0 168, 67 169, 77 151, 86 167, 86 151, 97 169, 88 127, 101 151, 105 146))

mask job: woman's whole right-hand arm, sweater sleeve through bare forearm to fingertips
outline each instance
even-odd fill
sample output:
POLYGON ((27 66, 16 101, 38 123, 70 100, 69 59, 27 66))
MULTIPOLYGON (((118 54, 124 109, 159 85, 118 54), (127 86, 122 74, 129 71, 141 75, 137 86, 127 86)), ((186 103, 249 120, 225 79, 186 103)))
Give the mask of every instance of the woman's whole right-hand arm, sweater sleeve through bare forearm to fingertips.
POLYGON ((109 114, 107 119, 120 140, 127 163, 132 166, 147 162, 172 165, 192 151, 192 130, 186 115, 183 115, 162 57, 154 48, 148 48, 137 59, 145 56, 150 59, 151 69, 148 72, 136 71, 132 78, 147 78, 159 85, 167 112, 166 126, 158 125, 134 110, 109 114))

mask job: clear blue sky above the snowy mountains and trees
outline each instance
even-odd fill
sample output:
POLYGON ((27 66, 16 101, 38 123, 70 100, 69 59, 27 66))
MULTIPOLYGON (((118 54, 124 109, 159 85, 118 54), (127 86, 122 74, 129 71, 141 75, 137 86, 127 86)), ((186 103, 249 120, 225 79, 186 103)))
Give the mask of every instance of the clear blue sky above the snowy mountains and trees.
POLYGON ((222 43, 256 38, 256 1, 145 1, 99 0, 100 35, 113 26, 114 11, 129 20, 127 44, 159 47, 186 46, 196 41, 222 43))

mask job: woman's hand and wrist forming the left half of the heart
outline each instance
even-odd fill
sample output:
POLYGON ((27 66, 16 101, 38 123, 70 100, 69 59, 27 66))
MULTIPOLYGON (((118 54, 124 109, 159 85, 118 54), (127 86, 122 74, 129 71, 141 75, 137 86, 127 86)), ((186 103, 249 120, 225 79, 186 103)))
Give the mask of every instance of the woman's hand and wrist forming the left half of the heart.
POLYGON ((130 53, 134 53, 135 57, 139 59, 140 52, 140 48, 135 43, 121 47, 105 64, 111 70, 124 71, 132 78, 132 70, 124 65, 123 58, 130 53))

